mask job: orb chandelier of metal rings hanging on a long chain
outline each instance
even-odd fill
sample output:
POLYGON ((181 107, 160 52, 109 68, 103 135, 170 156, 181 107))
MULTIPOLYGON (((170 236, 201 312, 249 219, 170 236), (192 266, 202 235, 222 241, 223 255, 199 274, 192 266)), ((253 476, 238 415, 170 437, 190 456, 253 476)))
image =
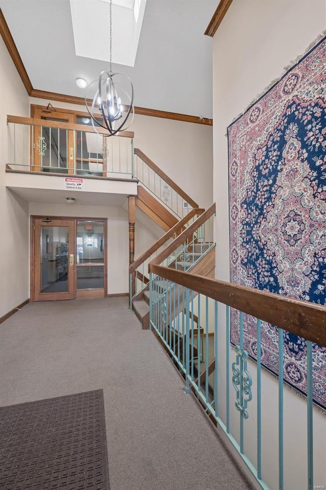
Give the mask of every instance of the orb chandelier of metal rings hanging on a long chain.
POLYGON ((88 106, 87 93, 85 95, 86 108, 92 118, 94 130, 98 133, 96 126, 100 126, 108 131, 108 134, 103 134, 102 136, 114 136, 115 134, 118 134, 122 128, 124 130, 129 128, 134 116, 133 86, 127 75, 121 72, 114 73, 112 71, 112 0, 110 0, 110 71, 101 71, 99 79, 91 82, 87 87, 86 92, 88 92, 90 87, 94 84, 98 84, 98 88, 93 97, 91 107, 88 106), (129 93, 121 86, 121 79, 123 77, 130 83, 131 95, 129 95, 129 93), (117 80, 119 80, 120 83, 118 83, 117 80), (120 95, 118 94, 118 91, 120 95), (123 97, 124 102, 129 105, 124 116, 122 116, 124 107, 122 106, 121 96, 123 97), (98 109, 103 116, 103 124, 95 118, 95 109, 98 109), (116 121, 119 121, 117 125, 116 121))

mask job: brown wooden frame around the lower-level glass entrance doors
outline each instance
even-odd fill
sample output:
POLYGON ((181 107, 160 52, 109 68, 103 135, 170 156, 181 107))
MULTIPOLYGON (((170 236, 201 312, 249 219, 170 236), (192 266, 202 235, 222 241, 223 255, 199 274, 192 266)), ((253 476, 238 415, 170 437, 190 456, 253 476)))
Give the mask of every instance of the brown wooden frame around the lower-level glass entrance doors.
MULTIPOLYGON (((51 220, 63 220, 72 221, 74 223, 74 236, 73 236, 73 254, 74 254, 74 271, 73 271, 73 287, 74 295, 73 299, 76 298, 107 298, 107 218, 100 217, 89 217, 89 216, 49 216, 49 215, 31 215, 31 228, 30 228, 30 301, 35 300, 35 221, 37 219, 51 219, 51 220), (77 261, 76 261, 76 236, 77 236, 77 221, 101 221, 104 224, 103 236, 104 236, 104 247, 103 247, 103 279, 104 279, 104 294, 99 295, 99 291, 102 289, 78 289, 77 285, 77 261)), ((60 299, 60 298, 58 298, 60 299)), ((38 300, 37 300, 38 301, 38 300)))

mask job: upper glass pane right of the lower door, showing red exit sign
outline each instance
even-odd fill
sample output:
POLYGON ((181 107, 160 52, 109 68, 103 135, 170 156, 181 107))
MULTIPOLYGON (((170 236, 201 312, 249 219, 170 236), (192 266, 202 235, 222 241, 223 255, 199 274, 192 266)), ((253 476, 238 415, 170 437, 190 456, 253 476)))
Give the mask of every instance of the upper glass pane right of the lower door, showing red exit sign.
POLYGON ((77 264, 104 262, 103 232, 102 221, 77 221, 77 264))

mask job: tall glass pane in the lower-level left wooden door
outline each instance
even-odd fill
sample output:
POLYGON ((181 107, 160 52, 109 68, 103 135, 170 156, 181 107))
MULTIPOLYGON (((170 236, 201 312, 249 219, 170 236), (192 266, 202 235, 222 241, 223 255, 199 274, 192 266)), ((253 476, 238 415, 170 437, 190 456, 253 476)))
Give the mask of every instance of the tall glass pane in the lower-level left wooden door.
POLYGON ((41 227, 41 292, 68 291, 68 227, 41 227))

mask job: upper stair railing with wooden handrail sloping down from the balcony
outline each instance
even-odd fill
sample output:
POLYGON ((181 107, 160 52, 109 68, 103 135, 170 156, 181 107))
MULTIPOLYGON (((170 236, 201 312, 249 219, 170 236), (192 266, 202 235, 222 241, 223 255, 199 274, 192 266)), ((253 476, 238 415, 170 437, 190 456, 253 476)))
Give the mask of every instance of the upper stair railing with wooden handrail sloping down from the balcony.
POLYGON ((184 217, 198 204, 141 150, 134 149, 134 175, 155 197, 178 218, 184 217))

